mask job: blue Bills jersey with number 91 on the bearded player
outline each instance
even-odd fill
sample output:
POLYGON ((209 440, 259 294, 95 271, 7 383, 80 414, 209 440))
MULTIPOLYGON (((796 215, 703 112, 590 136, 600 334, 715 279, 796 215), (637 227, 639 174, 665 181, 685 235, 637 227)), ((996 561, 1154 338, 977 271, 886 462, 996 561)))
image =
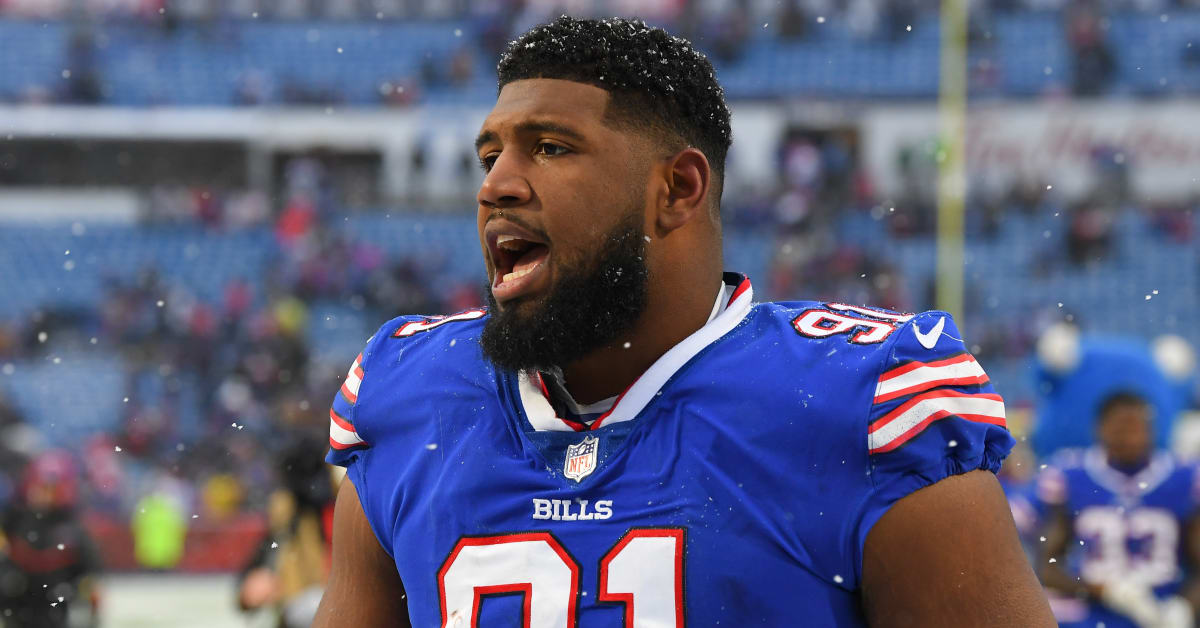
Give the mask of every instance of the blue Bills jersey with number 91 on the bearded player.
POLYGON ((995 472, 1003 401, 944 312, 752 303, 592 424, 498 371, 487 312, 401 317, 331 411, 414 626, 863 626, 863 544, 896 500, 995 472))

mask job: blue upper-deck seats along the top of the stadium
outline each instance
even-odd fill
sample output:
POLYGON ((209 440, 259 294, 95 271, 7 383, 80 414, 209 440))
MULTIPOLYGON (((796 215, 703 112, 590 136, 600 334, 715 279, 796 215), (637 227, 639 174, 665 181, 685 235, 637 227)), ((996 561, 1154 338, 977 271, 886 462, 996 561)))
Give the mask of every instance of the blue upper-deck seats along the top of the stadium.
MULTIPOLYGON (((756 30, 739 56, 716 65, 734 98, 931 96, 938 83, 929 71, 937 67, 938 22, 931 16, 914 22, 895 38, 864 38, 836 20, 796 41, 756 30)), ((1200 90, 1200 50, 1188 48, 1200 11, 1172 12, 1165 20, 1121 13, 1110 24, 1110 44, 1121 50, 1115 91, 1200 90)), ((1060 16, 1001 13, 986 29, 990 37, 972 46, 971 65, 995 72, 976 77, 978 94, 1032 96, 1070 84, 1060 16)), ((486 102, 494 95, 494 59, 478 47, 468 22, 217 20, 170 30, 112 22, 96 26, 91 55, 72 55, 73 32, 65 22, 0 19, 0 100, 61 94, 64 70, 84 62, 100 77, 104 101, 120 106, 232 106, 254 89, 265 103, 336 94, 332 101, 371 106, 382 102, 386 84, 400 80, 420 84, 433 103, 486 102), (458 52, 469 56, 470 72, 451 85, 446 68, 458 52), (298 89, 308 96, 298 96, 298 89)))

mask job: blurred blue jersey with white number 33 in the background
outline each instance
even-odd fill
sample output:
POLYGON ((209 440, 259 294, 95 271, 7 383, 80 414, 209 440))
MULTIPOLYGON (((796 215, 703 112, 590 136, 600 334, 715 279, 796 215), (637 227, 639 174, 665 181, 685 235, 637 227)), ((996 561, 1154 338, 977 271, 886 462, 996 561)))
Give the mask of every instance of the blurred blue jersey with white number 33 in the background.
MULTIPOLYGON (((1072 520, 1070 574, 1090 584, 1133 579, 1159 598, 1176 594, 1183 582, 1186 522, 1200 503, 1194 466, 1156 453, 1150 463, 1126 474, 1108 463, 1104 450, 1064 450, 1038 476, 1043 510, 1064 508, 1072 520)), ((1052 599, 1062 626, 1136 624, 1100 604, 1052 599)))

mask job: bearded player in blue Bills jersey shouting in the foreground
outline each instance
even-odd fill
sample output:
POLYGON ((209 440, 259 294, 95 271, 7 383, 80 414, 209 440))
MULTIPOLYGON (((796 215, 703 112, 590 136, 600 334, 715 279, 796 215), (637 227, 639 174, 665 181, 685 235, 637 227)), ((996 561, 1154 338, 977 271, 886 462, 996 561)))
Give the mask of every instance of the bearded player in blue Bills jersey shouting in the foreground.
POLYGON ((563 17, 498 70, 490 304, 354 361, 314 624, 1052 626, 950 317, 755 304, 724 273, 708 60, 563 17))

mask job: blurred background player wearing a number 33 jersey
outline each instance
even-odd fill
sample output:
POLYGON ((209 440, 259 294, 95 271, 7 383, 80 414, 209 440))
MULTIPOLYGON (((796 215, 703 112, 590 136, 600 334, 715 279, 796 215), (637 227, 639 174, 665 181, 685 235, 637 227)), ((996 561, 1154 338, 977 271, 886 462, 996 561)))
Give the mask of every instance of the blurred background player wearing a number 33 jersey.
POLYGON ((1054 600, 1061 626, 1194 623, 1196 469, 1153 450, 1150 408, 1132 393, 1109 396, 1097 419, 1098 444, 1060 454, 1038 478, 1048 520, 1040 575, 1066 596, 1054 600))

